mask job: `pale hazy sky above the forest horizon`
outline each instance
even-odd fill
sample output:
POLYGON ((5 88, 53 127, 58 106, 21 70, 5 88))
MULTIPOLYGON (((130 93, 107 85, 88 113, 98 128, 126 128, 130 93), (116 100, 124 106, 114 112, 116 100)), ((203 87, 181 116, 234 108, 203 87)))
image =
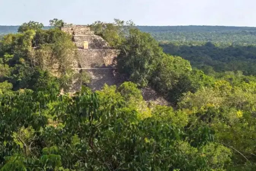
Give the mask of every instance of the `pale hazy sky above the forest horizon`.
POLYGON ((114 18, 137 25, 256 26, 255 0, 0 0, 0 25, 53 18, 73 24, 114 18))

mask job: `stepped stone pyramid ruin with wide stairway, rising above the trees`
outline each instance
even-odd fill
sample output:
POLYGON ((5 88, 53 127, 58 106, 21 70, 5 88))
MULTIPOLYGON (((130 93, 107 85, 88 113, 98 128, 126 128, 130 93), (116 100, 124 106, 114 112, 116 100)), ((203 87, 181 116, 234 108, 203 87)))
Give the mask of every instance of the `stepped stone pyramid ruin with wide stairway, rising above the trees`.
POLYGON ((86 71, 91 80, 87 85, 92 90, 100 90, 104 84, 116 84, 114 78, 113 59, 118 51, 108 46, 102 37, 94 35, 86 25, 71 25, 62 27, 62 30, 72 35, 78 47, 78 70, 86 71))

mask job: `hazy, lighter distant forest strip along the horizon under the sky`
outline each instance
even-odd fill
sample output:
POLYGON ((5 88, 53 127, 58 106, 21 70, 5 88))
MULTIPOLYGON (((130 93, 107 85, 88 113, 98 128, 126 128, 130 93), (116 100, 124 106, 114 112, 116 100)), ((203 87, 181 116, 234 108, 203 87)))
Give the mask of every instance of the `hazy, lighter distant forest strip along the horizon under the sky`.
MULTIPOLYGON (((0 35, 16 33, 19 26, 0 26, 0 35)), ((211 41, 254 44, 256 27, 230 26, 136 26, 150 33, 157 41, 211 41)), ((43 29, 49 29, 44 27, 43 29)))

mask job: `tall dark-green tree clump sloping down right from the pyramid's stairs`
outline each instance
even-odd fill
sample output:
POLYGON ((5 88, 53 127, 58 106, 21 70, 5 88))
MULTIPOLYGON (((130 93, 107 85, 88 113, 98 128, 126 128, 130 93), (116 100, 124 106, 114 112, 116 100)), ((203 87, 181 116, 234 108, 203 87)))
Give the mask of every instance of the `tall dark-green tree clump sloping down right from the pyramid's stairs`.
POLYGON ((193 69, 188 60, 166 55, 148 34, 131 29, 117 58, 118 71, 140 87, 152 86, 177 103, 185 92, 213 84, 213 78, 193 69))

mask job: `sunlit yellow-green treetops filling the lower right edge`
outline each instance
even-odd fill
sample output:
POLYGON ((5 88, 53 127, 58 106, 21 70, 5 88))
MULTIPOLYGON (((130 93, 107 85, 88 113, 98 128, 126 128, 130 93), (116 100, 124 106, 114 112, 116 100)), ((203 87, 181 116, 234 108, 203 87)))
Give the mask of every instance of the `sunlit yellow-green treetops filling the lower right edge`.
POLYGON ((191 112, 190 128, 210 125, 217 141, 232 150, 233 162, 244 166, 253 165, 255 160, 254 79, 241 73, 226 73, 213 87, 186 93, 179 102, 180 108, 191 112))

